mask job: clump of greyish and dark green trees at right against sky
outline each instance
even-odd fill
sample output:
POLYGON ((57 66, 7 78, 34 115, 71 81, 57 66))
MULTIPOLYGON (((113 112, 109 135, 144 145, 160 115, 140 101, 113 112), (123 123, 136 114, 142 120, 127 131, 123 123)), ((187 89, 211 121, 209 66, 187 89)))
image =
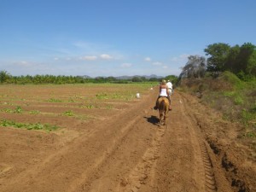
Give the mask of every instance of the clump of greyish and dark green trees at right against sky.
POLYGON ((210 44, 204 49, 207 58, 190 55, 189 61, 182 68, 179 78, 201 78, 206 73, 218 76, 219 73, 230 71, 242 80, 256 77, 256 46, 245 43, 241 46, 229 44, 210 44))

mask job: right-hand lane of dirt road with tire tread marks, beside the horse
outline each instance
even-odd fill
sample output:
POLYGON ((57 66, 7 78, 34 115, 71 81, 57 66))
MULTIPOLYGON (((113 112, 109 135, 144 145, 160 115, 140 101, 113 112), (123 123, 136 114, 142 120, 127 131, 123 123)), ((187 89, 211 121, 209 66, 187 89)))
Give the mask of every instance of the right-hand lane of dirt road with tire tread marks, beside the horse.
POLYGON ((160 158, 151 184, 139 191, 216 191, 205 140, 189 110, 190 104, 178 91, 172 96, 172 112, 162 140, 160 158))

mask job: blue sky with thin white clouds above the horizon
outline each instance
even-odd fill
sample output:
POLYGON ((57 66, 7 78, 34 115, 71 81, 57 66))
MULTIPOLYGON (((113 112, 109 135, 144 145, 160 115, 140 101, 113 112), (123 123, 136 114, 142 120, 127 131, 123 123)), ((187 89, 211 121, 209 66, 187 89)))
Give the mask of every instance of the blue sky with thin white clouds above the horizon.
POLYGON ((256 44, 255 23, 255 0, 0 0, 0 71, 179 75, 209 44, 256 44))

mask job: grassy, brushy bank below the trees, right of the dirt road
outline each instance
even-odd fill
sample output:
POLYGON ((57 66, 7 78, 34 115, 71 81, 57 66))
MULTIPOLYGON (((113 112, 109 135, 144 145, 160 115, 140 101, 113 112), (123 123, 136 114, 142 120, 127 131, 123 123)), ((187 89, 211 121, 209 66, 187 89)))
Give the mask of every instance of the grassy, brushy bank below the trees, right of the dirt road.
POLYGON ((200 92, 201 102, 223 113, 224 119, 256 129, 256 79, 246 82, 224 72, 215 79, 183 79, 179 90, 195 96, 200 92))

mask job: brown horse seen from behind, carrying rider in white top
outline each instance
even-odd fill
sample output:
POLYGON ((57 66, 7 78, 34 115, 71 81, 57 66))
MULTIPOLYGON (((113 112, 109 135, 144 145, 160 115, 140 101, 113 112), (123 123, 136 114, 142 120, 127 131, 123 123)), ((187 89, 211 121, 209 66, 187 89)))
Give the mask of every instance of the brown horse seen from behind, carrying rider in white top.
POLYGON ((166 97, 160 97, 157 101, 159 119, 161 125, 166 125, 167 114, 169 112, 169 101, 166 97))

